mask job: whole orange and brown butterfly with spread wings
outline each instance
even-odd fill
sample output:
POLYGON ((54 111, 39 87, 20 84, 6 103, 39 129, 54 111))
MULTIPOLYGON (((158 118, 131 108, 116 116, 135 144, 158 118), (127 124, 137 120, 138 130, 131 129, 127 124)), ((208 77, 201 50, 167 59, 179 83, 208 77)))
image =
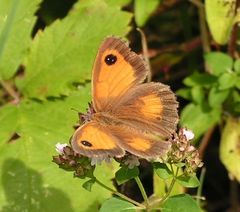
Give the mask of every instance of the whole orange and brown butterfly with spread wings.
POLYGON ((98 50, 92 72, 90 118, 72 136, 76 153, 90 158, 163 156, 178 122, 178 103, 169 86, 143 83, 144 59, 127 42, 107 37, 98 50))

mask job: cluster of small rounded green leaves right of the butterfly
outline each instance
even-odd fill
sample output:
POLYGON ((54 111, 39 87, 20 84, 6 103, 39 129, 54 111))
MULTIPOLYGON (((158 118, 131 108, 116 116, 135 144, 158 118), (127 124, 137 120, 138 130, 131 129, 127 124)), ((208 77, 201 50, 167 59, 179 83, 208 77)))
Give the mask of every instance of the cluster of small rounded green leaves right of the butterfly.
POLYGON ((181 124, 191 128, 199 138, 207 129, 218 123, 223 110, 239 114, 237 105, 239 99, 234 100, 234 92, 239 86, 239 61, 220 52, 205 55, 205 62, 211 72, 194 72, 184 79, 187 88, 179 90, 178 94, 190 100, 181 113, 181 124))

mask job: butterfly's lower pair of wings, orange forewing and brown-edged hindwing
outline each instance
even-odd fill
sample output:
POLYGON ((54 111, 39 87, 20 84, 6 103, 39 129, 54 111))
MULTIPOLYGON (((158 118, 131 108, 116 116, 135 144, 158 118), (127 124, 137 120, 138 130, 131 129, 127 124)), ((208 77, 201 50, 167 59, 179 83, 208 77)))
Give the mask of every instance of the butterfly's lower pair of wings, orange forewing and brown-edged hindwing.
POLYGON ((170 143, 124 125, 101 126, 92 121, 76 130, 72 137, 75 152, 90 157, 122 157, 125 151, 146 159, 163 156, 170 143))

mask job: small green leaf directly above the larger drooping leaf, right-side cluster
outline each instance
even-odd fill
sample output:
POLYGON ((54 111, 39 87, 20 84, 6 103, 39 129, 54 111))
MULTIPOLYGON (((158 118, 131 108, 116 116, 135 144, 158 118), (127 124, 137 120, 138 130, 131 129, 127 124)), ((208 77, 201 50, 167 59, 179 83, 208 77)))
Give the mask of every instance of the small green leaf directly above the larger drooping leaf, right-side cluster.
POLYGON ((221 107, 222 103, 227 99, 229 94, 229 89, 219 90, 217 86, 212 87, 208 95, 209 105, 212 108, 221 107))

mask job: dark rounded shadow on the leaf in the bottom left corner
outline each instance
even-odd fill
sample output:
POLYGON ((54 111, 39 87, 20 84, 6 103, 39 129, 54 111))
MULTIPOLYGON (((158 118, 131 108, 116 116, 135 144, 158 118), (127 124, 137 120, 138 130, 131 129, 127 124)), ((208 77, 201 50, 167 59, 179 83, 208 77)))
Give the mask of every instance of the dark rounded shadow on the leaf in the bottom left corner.
POLYGON ((73 211, 70 199, 64 192, 44 187, 41 175, 20 160, 5 160, 2 185, 7 199, 7 204, 1 205, 2 212, 73 211))

